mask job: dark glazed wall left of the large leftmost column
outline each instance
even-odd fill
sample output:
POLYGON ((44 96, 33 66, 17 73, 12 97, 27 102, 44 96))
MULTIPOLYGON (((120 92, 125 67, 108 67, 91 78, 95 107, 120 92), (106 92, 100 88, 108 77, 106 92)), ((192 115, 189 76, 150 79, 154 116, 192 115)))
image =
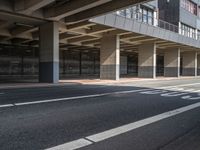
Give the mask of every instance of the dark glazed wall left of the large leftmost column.
POLYGON ((37 75, 38 64, 37 48, 0 44, 0 76, 37 75))

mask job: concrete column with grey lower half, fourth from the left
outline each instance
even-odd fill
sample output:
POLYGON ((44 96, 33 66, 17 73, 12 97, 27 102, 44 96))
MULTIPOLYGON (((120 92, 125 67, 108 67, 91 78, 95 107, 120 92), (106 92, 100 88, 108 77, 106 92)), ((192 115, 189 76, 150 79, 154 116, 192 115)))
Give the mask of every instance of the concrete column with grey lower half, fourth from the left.
POLYGON ((180 76, 180 49, 168 49, 164 56, 164 76, 180 76))

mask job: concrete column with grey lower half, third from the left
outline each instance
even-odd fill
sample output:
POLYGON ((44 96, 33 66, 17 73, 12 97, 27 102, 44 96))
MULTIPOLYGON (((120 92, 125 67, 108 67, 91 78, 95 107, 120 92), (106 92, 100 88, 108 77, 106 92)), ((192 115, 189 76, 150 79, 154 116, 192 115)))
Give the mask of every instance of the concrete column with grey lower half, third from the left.
POLYGON ((138 76, 156 78, 156 44, 142 44, 138 49, 138 76))

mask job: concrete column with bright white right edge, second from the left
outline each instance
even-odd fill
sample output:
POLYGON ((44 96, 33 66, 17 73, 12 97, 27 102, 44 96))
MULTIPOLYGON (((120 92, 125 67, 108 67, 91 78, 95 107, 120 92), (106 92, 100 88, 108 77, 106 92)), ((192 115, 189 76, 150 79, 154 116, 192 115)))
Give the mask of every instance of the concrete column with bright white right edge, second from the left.
POLYGON ((117 35, 105 35, 101 39, 100 79, 119 80, 120 41, 117 35))

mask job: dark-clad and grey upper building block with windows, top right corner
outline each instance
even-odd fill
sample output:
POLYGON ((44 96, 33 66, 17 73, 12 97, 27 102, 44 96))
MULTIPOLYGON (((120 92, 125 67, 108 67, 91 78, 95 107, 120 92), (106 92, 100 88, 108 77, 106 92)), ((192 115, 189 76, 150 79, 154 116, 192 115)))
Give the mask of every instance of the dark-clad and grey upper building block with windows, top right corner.
POLYGON ((159 18, 178 26, 179 34, 199 39, 199 5, 198 0, 159 0, 159 18))

